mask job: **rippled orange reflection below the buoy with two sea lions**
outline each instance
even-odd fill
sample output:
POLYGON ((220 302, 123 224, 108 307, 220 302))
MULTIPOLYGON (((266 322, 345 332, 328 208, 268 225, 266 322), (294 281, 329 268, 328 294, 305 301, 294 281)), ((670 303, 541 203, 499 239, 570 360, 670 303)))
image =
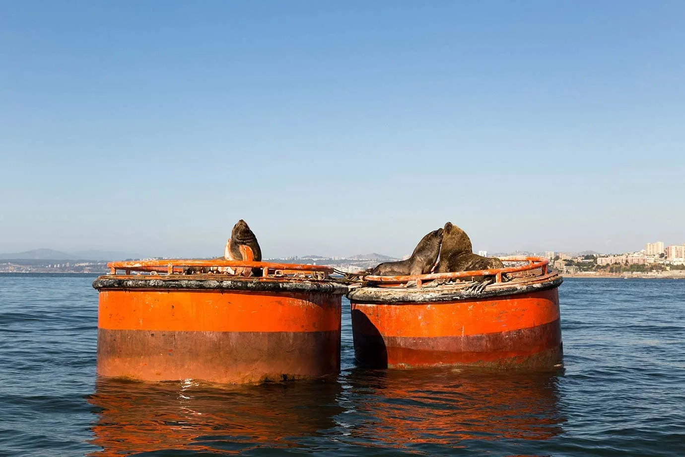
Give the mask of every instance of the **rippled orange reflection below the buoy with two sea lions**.
POLYGON ((347 377, 351 441, 406 448, 472 440, 545 440, 562 432, 555 373, 363 370, 347 377))

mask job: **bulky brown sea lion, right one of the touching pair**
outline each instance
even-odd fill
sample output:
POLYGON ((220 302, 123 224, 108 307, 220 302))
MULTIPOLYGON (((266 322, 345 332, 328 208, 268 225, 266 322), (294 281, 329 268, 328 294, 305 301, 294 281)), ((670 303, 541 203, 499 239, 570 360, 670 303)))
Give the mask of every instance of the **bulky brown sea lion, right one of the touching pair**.
MULTIPOLYGON (((438 273, 499 268, 504 268, 504 264, 499 258, 473 254, 473 246, 471 246, 469 235, 451 222, 445 224, 445 227, 443 227, 443 246, 440 249, 440 260, 438 261, 438 273)), ((462 279, 469 280, 469 277, 462 279)), ((471 276, 470 279, 484 283, 478 284, 478 291, 484 290, 485 286, 493 282, 492 276, 471 276)))

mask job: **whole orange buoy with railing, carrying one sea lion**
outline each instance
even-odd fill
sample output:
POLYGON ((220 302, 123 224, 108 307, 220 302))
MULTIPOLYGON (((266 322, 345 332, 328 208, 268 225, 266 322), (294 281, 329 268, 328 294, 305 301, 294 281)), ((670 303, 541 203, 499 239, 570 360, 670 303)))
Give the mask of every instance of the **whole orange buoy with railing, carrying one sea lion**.
POLYGON ((329 280, 330 267, 242 260, 108 267, 110 275, 92 284, 99 291, 99 375, 247 383, 340 371, 347 287, 329 280), (262 275, 182 274, 187 267, 261 269, 262 275))

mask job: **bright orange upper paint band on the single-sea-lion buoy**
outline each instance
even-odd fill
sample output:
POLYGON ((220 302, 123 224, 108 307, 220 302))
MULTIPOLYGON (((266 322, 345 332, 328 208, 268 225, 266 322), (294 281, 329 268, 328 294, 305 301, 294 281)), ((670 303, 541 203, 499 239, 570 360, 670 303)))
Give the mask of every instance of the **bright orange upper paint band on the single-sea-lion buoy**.
POLYGON ((195 332, 340 330, 340 295, 101 291, 98 327, 195 332))

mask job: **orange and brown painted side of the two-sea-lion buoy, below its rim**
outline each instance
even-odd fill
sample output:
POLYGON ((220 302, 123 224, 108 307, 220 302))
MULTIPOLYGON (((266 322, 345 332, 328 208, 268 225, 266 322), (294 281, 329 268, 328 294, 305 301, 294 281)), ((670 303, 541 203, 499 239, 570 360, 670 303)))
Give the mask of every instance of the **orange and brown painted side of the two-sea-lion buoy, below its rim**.
POLYGON ((558 288, 438 302, 351 297, 355 356, 373 368, 552 368, 562 362, 558 288))

